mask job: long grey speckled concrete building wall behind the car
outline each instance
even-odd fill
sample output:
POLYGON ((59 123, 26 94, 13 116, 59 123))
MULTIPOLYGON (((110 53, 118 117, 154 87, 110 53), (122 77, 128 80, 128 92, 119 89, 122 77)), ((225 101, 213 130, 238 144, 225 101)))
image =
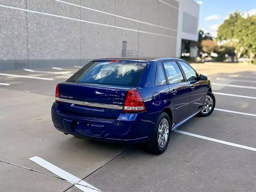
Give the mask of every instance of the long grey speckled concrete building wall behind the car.
MULTIPOLYGON (((192 0, 190 0, 192 1, 192 0)), ((176 0, 0 0, 0 70, 176 56, 176 0)))

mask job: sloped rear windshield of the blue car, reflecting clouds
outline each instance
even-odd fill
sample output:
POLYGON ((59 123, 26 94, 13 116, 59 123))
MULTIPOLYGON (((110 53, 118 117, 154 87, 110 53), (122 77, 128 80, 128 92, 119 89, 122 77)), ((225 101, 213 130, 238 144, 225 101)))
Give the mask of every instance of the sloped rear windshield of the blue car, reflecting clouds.
POLYGON ((67 82, 136 87, 146 64, 146 61, 92 61, 78 70, 67 82))

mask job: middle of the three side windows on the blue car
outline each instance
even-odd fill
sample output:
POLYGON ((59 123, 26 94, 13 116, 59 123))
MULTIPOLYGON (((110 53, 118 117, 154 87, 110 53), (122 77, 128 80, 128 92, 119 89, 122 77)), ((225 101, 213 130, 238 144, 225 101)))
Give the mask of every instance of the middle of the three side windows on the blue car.
POLYGON ((180 68, 175 61, 164 62, 164 69, 170 84, 184 82, 180 68))

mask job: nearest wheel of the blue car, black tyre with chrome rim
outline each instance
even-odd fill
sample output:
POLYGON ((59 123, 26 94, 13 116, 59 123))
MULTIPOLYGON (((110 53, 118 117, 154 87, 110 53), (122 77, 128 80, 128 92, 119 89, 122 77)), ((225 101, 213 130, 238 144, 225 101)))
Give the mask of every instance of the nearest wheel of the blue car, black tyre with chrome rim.
POLYGON ((170 118, 166 112, 162 112, 156 120, 156 124, 155 124, 154 131, 150 141, 144 144, 144 148, 146 152, 152 153, 152 154, 162 154, 168 146, 168 143, 170 140, 170 130, 171 130, 170 118), (168 126, 168 128, 166 128, 165 125, 168 126), (165 131, 163 132, 163 130, 165 131), (167 130, 168 130, 168 133, 167 133, 167 130), (160 132, 162 132, 162 135, 159 135, 160 132), (166 133, 168 134, 167 138, 166 138, 166 133), (162 140, 162 142, 160 141, 160 144, 159 144, 158 140, 162 140), (160 145, 163 145, 163 146, 160 146, 160 145))

